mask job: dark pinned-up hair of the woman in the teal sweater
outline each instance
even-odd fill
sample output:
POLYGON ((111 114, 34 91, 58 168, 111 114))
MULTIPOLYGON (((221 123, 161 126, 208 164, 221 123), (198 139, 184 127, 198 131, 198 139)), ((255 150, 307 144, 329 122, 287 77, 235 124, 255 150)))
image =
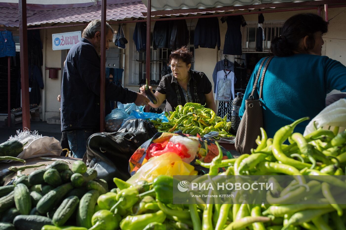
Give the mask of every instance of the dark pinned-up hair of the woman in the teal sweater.
POLYGON ((302 38, 309 36, 308 47, 311 50, 315 46, 314 33, 328 31, 328 23, 314 13, 300 13, 285 21, 280 37, 275 37, 271 41, 270 51, 273 55, 286 57, 293 55, 293 51, 299 50, 299 43, 302 38))

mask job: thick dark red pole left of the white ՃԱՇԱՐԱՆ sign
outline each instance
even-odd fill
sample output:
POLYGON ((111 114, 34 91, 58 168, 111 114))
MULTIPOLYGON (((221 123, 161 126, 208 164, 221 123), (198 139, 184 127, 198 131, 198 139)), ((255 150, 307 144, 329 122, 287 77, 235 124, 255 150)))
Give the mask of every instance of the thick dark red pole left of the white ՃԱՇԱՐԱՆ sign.
POLYGON ((19 0, 20 80, 22 93, 23 130, 30 130, 28 35, 26 26, 26 0, 19 0))

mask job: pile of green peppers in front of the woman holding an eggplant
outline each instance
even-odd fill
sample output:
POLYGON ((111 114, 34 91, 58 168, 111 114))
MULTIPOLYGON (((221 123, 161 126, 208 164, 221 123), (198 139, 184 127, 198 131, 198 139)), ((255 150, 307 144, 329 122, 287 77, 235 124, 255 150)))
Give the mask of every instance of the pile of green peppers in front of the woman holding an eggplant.
POLYGON ((175 111, 167 114, 169 122, 151 121, 159 132, 181 131, 182 133, 197 135, 201 137, 211 131, 219 132, 220 137, 234 136, 229 133, 231 122, 227 122, 227 115, 224 118, 216 116, 210 108, 205 108, 199 103, 186 103, 184 106, 178 105, 175 111))

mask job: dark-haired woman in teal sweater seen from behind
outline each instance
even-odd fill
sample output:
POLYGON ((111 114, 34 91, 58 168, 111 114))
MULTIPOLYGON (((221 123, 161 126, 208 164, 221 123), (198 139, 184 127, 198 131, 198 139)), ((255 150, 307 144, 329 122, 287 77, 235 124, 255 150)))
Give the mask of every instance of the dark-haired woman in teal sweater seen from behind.
MULTIPOLYGON (((265 73, 262 94, 263 128, 268 137, 299 118, 315 117, 325 108, 326 95, 331 90, 346 92, 346 67, 321 56, 322 35, 327 30, 327 22, 320 16, 303 13, 289 18, 281 36, 272 40, 271 52, 275 57, 265 73)), ((247 85, 240 117, 261 62, 257 63, 247 85)), ((260 82, 254 98, 258 98, 260 82)), ((294 131, 303 133, 308 122, 300 123, 294 131)))

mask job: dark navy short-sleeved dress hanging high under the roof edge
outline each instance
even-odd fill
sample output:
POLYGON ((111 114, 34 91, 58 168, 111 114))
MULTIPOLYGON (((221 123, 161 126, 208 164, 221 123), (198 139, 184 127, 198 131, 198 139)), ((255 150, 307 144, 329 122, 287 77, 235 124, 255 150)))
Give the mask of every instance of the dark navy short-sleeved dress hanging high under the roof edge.
POLYGON ((222 23, 227 22, 225 35, 224 54, 242 55, 242 32, 240 25, 246 26, 246 21, 242 15, 221 18, 222 23))

